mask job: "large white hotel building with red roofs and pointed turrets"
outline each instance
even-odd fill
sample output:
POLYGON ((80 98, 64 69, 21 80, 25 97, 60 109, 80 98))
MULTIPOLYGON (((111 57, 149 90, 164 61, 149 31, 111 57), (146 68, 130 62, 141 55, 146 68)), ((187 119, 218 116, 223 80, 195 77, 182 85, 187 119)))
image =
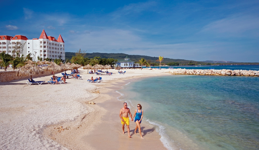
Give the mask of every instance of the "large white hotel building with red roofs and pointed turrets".
POLYGON ((6 54, 12 55, 12 51, 16 42, 25 43, 23 53, 24 56, 31 53, 31 57, 37 61, 38 56, 41 58, 52 58, 65 60, 65 42, 59 34, 59 38, 56 39, 53 36, 47 36, 43 30, 39 39, 29 40, 26 36, 15 35, 13 36, 0 36, 0 53, 6 52, 6 54), (35 55, 35 56, 34 56, 35 55))

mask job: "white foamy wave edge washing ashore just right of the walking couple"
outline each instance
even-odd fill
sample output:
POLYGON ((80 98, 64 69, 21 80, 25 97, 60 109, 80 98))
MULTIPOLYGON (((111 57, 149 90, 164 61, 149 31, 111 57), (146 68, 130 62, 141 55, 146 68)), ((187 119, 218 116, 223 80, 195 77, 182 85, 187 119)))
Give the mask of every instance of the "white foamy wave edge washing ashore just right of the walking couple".
POLYGON ((169 136, 166 134, 166 128, 164 126, 162 126, 161 124, 158 124, 156 122, 150 121, 149 119, 147 119, 147 121, 150 124, 156 125, 159 127, 159 129, 156 129, 156 131, 158 132, 158 134, 161 136, 160 141, 163 143, 163 145, 168 149, 168 150, 174 150, 171 146, 170 146, 170 141, 172 141, 169 136))

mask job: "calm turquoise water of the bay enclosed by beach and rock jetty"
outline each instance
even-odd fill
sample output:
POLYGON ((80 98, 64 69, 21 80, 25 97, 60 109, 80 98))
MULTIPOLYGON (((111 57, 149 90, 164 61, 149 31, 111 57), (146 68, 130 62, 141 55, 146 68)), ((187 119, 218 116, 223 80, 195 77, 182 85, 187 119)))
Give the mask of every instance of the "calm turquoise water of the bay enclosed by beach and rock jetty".
POLYGON ((142 105, 167 149, 259 148, 259 77, 159 76, 117 92, 131 111, 142 105))

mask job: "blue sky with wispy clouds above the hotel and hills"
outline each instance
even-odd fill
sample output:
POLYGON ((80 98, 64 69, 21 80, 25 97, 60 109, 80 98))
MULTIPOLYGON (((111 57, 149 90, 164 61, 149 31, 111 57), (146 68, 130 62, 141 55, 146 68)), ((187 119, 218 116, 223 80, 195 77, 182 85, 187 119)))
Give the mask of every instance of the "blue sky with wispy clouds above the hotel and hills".
POLYGON ((0 35, 48 36, 65 51, 259 62, 259 1, 2 1, 0 35))

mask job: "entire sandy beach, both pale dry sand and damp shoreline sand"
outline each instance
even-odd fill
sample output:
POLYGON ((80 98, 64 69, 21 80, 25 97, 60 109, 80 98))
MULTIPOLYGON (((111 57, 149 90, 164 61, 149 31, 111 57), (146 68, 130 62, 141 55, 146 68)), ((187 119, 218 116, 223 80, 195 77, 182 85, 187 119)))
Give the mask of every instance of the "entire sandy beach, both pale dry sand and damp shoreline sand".
MULTIPOLYGON (((101 83, 87 82, 96 75, 78 70, 82 80, 67 79, 67 84, 28 86, 27 79, 0 83, 0 149, 166 149, 158 127, 145 120, 141 124, 145 139, 134 134, 133 121, 132 138, 127 132, 122 134, 119 111, 123 102, 118 101, 116 90, 143 77, 170 75, 167 69, 126 69, 124 75, 101 75, 101 83)), ((34 80, 49 81, 50 77, 34 80)))

